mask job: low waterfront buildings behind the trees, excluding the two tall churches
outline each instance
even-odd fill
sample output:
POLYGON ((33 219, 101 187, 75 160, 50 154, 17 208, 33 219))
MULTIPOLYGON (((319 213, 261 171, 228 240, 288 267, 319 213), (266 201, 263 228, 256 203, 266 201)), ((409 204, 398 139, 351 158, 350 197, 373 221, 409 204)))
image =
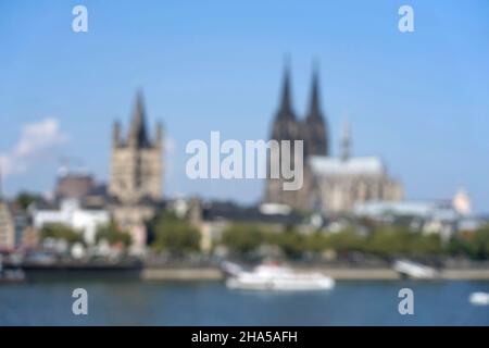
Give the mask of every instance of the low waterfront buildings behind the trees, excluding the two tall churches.
MULTIPOLYGON (((70 174, 61 177, 79 183, 89 176, 70 174)), ((76 186, 76 185, 75 185, 76 186)), ((440 201, 369 201, 359 203, 348 216, 325 216, 321 213, 304 215, 286 204, 262 203, 243 207, 225 201, 202 201, 200 199, 167 200, 154 209, 172 209, 177 215, 186 216, 201 232, 201 249, 211 250, 223 232, 230 224, 253 224, 266 231, 281 232, 294 226, 302 233, 323 231, 336 233, 347 227, 352 221, 369 219, 388 224, 408 225, 424 234, 438 234, 448 240, 457 231, 475 231, 485 220, 469 213, 469 199, 465 191, 459 191, 453 200, 440 201), (348 217, 348 220, 346 220, 348 217)), ((16 248, 35 248, 38 232, 46 224, 63 224, 83 233, 85 243, 95 246, 99 226, 106 225, 113 216, 103 207, 87 204, 86 198, 64 197, 58 201, 38 201, 24 212, 14 203, 0 201, 0 250, 16 248)), ((133 246, 134 251, 141 252, 146 244, 143 224, 137 225, 133 237, 138 236, 133 246)))

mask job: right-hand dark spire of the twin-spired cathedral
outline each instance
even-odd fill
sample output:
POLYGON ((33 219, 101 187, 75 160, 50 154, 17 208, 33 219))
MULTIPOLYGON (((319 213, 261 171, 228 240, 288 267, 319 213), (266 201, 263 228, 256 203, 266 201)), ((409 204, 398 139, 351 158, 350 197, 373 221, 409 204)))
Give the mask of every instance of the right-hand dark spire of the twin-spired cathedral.
POLYGON ((318 69, 314 66, 311 99, 303 124, 304 157, 329 156, 327 125, 321 110, 318 69))

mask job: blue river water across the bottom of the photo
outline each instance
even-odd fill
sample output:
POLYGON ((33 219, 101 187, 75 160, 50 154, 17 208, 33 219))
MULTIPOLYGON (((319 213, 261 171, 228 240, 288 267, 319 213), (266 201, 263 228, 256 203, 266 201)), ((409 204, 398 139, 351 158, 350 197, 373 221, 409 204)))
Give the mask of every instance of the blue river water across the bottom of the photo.
POLYGON ((63 281, 0 285, 0 325, 489 325, 489 282, 337 282, 329 291, 255 293, 222 282, 63 281), (74 315, 72 291, 88 293, 74 315), (414 314, 401 315, 401 288, 414 314))

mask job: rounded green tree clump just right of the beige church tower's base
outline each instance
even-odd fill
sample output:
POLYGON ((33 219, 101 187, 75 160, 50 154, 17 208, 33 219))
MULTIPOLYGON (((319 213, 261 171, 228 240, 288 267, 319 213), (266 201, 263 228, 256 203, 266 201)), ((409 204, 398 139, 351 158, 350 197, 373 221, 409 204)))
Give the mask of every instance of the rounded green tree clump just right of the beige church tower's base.
POLYGON ((158 251, 180 256, 200 249, 200 232, 173 212, 160 212, 149 227, 154 235, 152 247, 158 251))

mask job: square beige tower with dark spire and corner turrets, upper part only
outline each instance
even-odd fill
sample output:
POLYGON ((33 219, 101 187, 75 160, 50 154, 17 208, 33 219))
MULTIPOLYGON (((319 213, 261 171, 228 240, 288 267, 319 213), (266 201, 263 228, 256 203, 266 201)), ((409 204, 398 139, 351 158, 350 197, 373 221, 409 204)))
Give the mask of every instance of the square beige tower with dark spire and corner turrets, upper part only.
POLYGON ((122 136, 118 122, 112 132, 109 192, 121 203, 137 204, 143 200, 161 199, 162 138, 161 124, 156 125, 154 137, 150 138, 142 94, 138 92, 127 136, 122 136))

